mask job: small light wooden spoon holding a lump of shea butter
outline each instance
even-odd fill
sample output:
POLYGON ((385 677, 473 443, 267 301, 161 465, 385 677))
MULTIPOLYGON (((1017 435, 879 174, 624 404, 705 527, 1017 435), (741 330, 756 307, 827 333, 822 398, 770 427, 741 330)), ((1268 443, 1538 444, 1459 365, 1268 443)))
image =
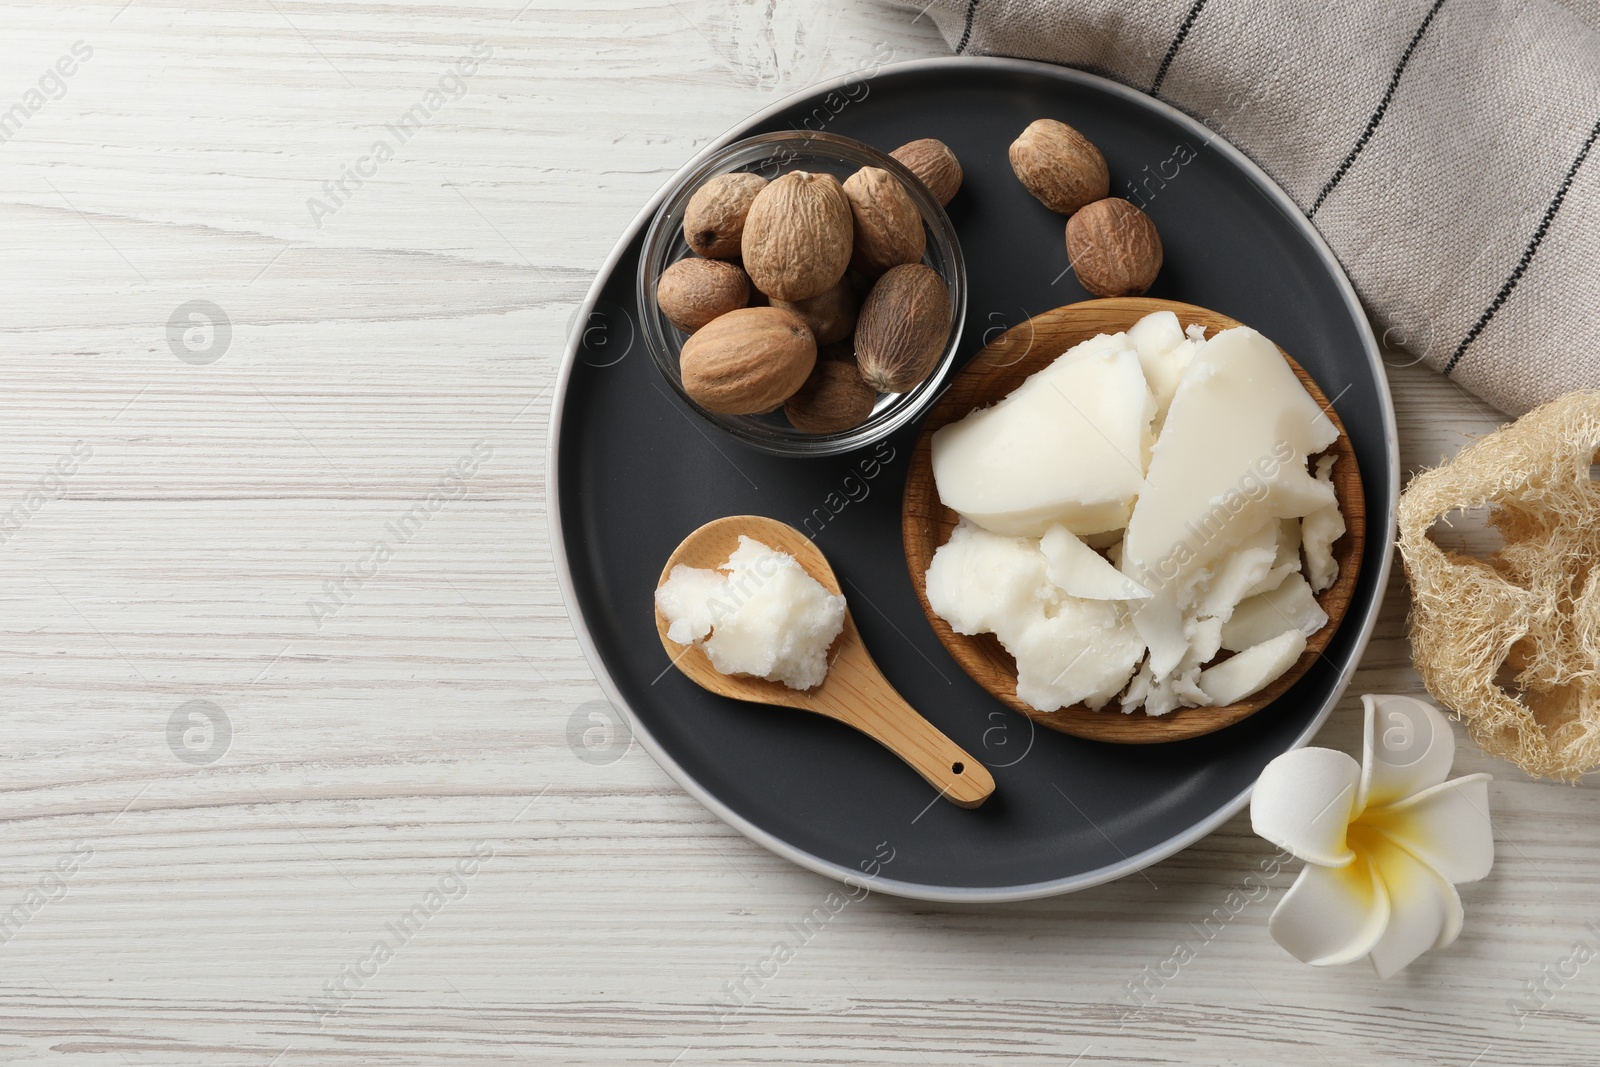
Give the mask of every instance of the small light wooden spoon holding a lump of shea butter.
MULTIPOLYGON (((827 557, 810 537, 787 523, 762 515, 730 515, 706 523, 677 547, 661 571, 667 581, 672 568, 683 563, 715 569, 728 561, 739 547, 739 534, 787 552, 830 593, 843 595, 827 557)), ((658 582, 659 584, 659 582, 658 582)), ((917 713, 894 691, 878 665, 872 662, 856 621, 845 609, 845 630, 829 649, 827 678, 813 689, 790 689, 781 681, 746 675, 725 675, 710 665, 706 653, 693 645, 678 645, 667 637, 667 621, 656 611, 656 630, 661 645, 672 662, 688 675, 690 681, 718 696, 752 704, 776 704, 816 712, 854 726, 885 749, 910 763, 912 769, 928 779, 939 795, 963 808, 976 808, 995 790, 989 768, 968 755, 946 737, 926 718, 917 713)))

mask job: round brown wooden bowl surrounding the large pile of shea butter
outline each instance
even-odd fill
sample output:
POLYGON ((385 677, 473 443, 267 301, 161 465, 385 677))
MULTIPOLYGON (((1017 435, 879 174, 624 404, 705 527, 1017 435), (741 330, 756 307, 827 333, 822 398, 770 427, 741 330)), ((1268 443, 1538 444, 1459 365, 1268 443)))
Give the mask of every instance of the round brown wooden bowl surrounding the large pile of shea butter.
MULTIPOLYGON (((910 568, 912 585, 917 587, 917 598, 922 601, 922 609, 928 616, 928 622, 933 624, 934 633, 944 641, 955 662, 1002 704, 1027 715, 1035 723, 1075 737, 1118 744, 1154 744, 1158 741, 1198 737, 1224 726, 1232 726, 1282 696, 1322 656, 1334 630, 1339 629, 1346 608, 1350 605, 1350 595, 1355 592, 1366 530, 1362 474, 1355 464, 1350 438, 1344 432, 1344 426, 1339 422, 1333 405, 1328 403, 1328 398, 1317 387, 1317 382, 1310 379, 1310 374, 1299 363, 1290 358, 1288 352, 1283 352, 1283 358, 1294 368, 1301 384, 1306 386, 1306 390, 1328 413, 1333 426, 1339 430, 1338 440, 1323 454, 1336 454, 1339 458, 1333 466, 1333 488, 1339 499, 1339 509, 1344 512, 1346 533, 1333 544, 1333 558, 1339 563, 1339 577, 1317 597, 1322 609, 1328 614, 1328 624, 1306 640, 1306 651, 1277 681, 1237 704, 1226 707, 1182 707, 1166 715, 1146 715, 1144 709, 1125 713, 1118 710, 1115 702, 1107 704, 1098 712, 1082 704, 1056 712, 1040 712, 1018 699, 1016 662, 1000 646, 1000 640, 994 633, 981 633, 978 637, 957 633, 950 629, 949 622, 928 606, 925 584, 928 563, 933 561, 934 550, 949 541, 957 522, 955 512, 939 502, 939 494, 933 485, 931 443, 934 430, 965 418, 973 408, 995 403, 1072 346, 1088 341, 1099 333, 1128 330, 1139 318, 1158 310, 1174 312, 1184 326, 1190 323, 1205 326, 1206 336, 1240 325, 1227 315, 1219 315, 1194 304, 1123 296, 1069 304, 1067 307, 1058 307, 1013 326, 997 338, 994 344, 973 357, 950 379, 944 397, 923 424, 917 450, 912 453, 910 472, 906 478, 906 501, 901 517, 906 539, 906 565, 910 568)), ((1278 350, 1282 352, 1282 349, 1278 350)))

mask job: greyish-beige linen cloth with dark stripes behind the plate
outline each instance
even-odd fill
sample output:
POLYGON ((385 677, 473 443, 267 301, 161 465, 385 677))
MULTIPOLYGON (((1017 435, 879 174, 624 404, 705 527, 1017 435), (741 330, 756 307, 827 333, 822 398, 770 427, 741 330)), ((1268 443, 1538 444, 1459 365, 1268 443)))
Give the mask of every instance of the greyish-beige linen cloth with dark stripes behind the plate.
POLYGON ((1512 414, 1600 386, 1600 2, 893 2, 958 54, 1078 67, 1221 133, 1322 230, 1390 363, 1512 414))

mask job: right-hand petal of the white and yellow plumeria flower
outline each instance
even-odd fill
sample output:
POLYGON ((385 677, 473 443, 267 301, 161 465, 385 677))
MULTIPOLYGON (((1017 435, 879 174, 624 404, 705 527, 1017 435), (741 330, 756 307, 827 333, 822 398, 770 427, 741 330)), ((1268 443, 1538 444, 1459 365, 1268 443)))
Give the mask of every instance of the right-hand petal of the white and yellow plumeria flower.
POLYGON ((1488 787, 1488 774, 1467 774, 1406 797, 1397 805, 1368 809, 1362 822, 1405 848, 1442 878, 1477 881, 1494 865, 1488 787))

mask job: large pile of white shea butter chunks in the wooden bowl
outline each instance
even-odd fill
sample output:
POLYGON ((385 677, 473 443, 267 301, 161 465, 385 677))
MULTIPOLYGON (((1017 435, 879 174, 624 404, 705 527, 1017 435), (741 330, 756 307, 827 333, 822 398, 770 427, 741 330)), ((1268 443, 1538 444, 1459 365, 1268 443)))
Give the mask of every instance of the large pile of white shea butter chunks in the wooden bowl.
POLYGON ((962 515, 926 574, 1038 710, 1165 715, 1270 685, 1326 625, 1338 430, 1277 346, 1171 312, 1067 350, 933 437, 962 515), (1304 566, 1302 566, 1304 552, 1304 566), (1224 651, 1234 656, 1214 662, 1224 651))

